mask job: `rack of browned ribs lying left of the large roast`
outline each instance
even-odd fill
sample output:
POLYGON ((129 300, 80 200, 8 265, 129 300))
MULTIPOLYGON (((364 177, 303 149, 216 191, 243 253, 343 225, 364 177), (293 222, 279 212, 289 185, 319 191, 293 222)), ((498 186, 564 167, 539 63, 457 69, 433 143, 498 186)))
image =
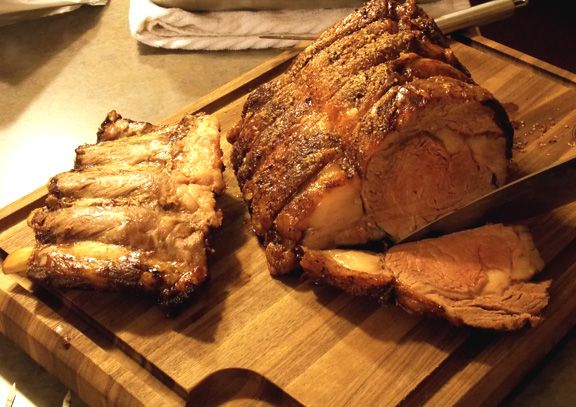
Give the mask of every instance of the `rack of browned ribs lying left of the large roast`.
POLYGON ((30 214, 28 276, 144 291, 177 311, 207 279, 206 239, 222 221, 219 140, 210 116, 155 126, 111 112, 98 142, 78 147, 75 168, 50 180, 46 207, 30 214))

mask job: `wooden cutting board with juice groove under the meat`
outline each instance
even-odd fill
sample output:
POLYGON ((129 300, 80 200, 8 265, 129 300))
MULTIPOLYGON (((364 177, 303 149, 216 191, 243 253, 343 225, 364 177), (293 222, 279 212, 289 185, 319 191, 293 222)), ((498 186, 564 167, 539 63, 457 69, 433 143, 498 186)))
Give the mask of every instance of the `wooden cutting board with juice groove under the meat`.
MULTIPOLYGON (((461 41, 464 39, 461 39, 461 41)), ((482 37, 453 49, 516 123, 512 178, 576 154, 574 75, 482 37)), ((228 128, 290 50, 166 118, 228 128)), ((113 109, 114 106, 110 106, 113 109)), ((133 118, 145 120, 145 118, 133 118)), ((95 129, 96 130, 96 129, 95 129)), ((90 406, 494 406, 576 319, 576 205, 526 220, 552 279, 543 322, 497 333, 408 315, 298 277, 272 278, 227 165, 210 282, 166 319, 138 295, 56 291, 0 276, 0 331, 90 406)), ((39 190, 0 212, 6 253, 33 243, 39 190)))

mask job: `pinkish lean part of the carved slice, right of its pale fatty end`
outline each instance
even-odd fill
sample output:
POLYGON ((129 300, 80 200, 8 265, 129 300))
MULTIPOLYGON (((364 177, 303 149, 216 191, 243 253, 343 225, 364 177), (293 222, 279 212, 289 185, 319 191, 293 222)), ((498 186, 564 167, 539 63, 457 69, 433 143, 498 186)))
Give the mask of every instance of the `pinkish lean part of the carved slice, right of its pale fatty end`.
POLYGON ((550 283, 527 282, 544 262, 520 226, 490 225, 395 246, 385 263, 396 278, 399 305, 456 325, 517 329, 536 323, 548 303, 550 283))

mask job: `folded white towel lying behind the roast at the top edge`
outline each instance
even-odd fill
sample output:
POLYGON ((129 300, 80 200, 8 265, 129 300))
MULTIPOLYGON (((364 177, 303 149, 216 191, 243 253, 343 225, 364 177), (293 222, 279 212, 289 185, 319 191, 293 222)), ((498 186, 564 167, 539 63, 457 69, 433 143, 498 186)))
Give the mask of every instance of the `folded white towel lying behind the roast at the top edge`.
MULTIPOLYGON (((422 4, 432 17, 470 7, 468 0, 422 4)), ((290 47, 298 41, 263 39, 278 34, 314 35, 352 10, 217 11, 194 13, 157 6, 151 0, 130 1, 130 31, 152 47, 187 50, 240 50, 290 47)))

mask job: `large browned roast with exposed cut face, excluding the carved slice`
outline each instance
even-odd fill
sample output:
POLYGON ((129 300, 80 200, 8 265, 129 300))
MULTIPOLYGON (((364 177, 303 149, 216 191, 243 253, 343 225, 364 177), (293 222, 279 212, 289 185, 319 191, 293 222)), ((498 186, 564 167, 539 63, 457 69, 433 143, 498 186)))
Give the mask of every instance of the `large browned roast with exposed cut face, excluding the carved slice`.
POLYGON ((274 274, 297 266, 299 245, 399 240, 502 185, 511 137, 434 21, 388 0, 323 33, 228 133, 274 274))

